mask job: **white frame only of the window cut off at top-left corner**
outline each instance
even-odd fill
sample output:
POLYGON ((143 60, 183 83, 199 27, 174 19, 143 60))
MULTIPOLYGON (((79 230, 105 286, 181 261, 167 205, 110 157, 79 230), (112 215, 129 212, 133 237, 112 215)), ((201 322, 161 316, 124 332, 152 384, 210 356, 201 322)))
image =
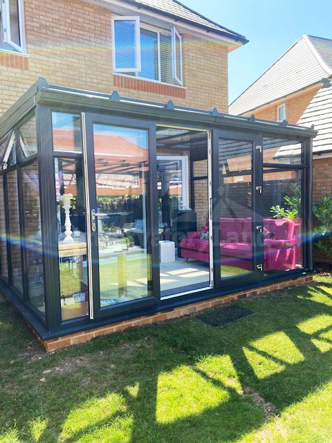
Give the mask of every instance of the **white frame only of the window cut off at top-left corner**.
MULTIPOLYGON (((20 45, 12 41, 11 31, 10 31, 10 8, 9 8, 10 0, 1 0, 1 19, 2 19, 2 33, 3 33, 3 42, 7 43, 12 48, 16 49, 20 53, 24 53, 26 51, 26 35, 24 28, 24 5, 23 0, 17 0, 17 8, 19 15, 19 37, 20 37, 20 45)), ((3 51, 3 48, 0 48, 0 51, 3 51)))

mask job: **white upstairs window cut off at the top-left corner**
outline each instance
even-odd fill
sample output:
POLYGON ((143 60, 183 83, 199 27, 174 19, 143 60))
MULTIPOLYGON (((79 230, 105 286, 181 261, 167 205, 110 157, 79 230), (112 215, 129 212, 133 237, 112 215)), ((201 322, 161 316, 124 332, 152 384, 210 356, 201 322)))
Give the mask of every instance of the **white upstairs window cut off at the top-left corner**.
POLYGON ((0 0, 0 48, 24 51, 23 0, 0 0))

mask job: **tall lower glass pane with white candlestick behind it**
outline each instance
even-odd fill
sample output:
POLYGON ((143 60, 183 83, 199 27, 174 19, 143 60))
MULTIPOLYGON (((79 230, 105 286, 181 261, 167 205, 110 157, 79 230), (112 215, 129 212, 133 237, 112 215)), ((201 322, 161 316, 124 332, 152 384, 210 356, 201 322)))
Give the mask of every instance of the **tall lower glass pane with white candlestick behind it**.
POLYGON ((55 159, 62 320, 89 313, 82 159, 55 159))

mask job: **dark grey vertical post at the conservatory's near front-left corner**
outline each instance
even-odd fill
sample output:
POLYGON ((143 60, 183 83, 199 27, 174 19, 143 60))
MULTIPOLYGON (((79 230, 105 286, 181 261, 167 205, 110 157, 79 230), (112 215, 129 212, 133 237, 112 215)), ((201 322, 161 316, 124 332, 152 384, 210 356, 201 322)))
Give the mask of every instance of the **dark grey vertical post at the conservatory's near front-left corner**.
POLYGON ((57 250, 57 212, 53 159, 52 113, 37 105, 37 145, 39 159, 40 208, 44 258, 44 297, 46 325, 50 331, 61 323, 59 299, 59 260, 57 250))

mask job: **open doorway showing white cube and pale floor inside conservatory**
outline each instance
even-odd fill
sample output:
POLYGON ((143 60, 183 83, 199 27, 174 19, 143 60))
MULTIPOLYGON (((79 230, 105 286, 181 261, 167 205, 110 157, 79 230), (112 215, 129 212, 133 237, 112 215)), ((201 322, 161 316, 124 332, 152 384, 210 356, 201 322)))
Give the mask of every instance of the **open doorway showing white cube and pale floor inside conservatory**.
POLYGON ((163 297, 210 287, 208 137, 157 128, 160 289, 163 297))

